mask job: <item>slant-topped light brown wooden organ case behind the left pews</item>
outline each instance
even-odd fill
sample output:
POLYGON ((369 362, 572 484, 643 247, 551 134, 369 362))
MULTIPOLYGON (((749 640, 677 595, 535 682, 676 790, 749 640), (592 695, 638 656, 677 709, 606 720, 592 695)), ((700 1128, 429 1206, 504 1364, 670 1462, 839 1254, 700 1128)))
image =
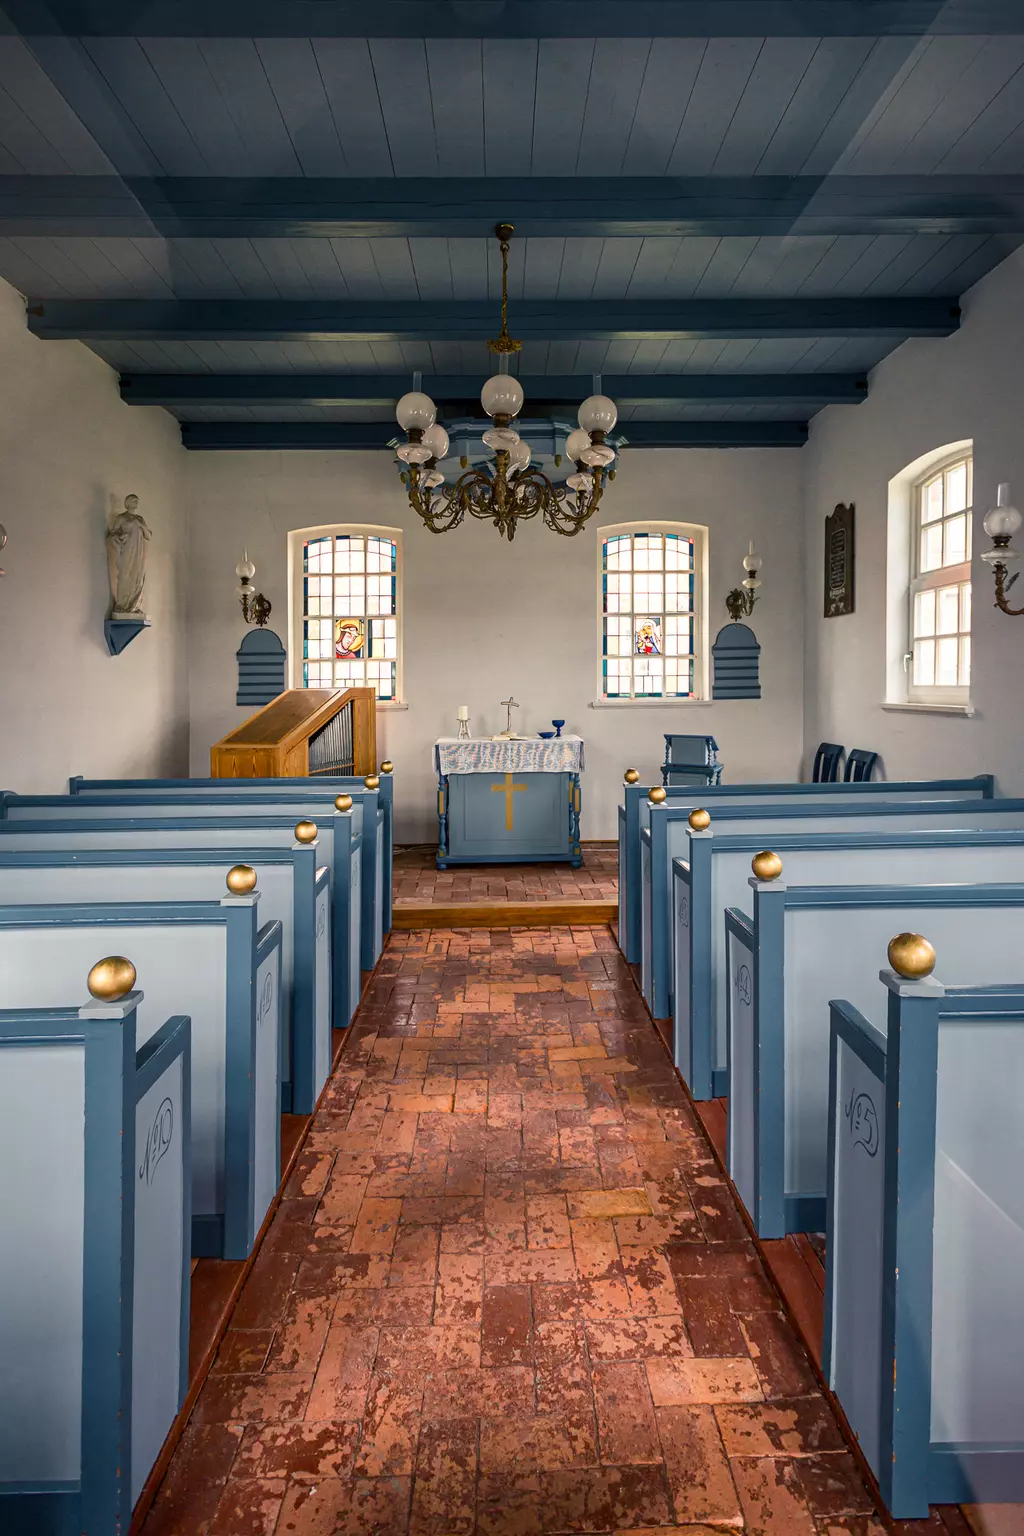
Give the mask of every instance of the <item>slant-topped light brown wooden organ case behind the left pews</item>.
POLYGON ((213 779, 376 773, 373 688, 289 688, 210 748, 213 779))

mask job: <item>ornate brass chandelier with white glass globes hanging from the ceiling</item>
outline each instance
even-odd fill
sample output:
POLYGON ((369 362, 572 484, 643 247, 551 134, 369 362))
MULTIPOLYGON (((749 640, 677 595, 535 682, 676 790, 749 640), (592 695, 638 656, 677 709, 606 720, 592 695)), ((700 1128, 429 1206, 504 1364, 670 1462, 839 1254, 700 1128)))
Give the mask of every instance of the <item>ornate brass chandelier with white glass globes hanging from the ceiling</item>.
MULTIPOLYGON (((398 456, 405 465, 402 481, 408 504, 431 533, 457 528, 468 513, 494 524, 510 542, 516 528, 537 513, 554 533, 567 538, 579 533, 597 511, 616 450, 605 441, 619 419, 614 401, 606 395, 591 395, 579 409, 579 427, 565 442, 565 453, 576 470, 562 485, 554 485, 542 470, 530 467, 530 445, 516 432, 513 421, 522 410, 522 384, 508 372, 508 358, 519 352, 522 341, 508 335, 508 243, 511 224, 494 227, 502 252, 502 329, 488 341, 497 353, 499 372, 481 390, 481 404, 493 425, 482 435, 494 459, 464 470, 454 485, 441 490, 444 473, 438 461, 448 453, 448 433, 438 422, 438 407, 428 395, 413 390, 402 395, 396 407, 399 427, 407 441, 399 442, 398 456), (436 493, 436 495, 434 495, 436 493)), ((556 461, 557 462, 557 461, 556 461)))

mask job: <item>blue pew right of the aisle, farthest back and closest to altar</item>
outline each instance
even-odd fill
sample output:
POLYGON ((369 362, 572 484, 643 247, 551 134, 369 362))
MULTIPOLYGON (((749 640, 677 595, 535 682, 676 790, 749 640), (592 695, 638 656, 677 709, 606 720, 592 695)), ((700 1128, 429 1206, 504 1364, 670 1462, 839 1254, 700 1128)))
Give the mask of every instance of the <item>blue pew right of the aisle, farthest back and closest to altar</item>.
MULTIPOLYGON (((629 770, 634 773, 636 770, 629 770)), ((660 786, 659 786, 660 788, 660 786)), ((913 782, 901 782, 898 785, 886 783, 722 783, 708 785, 706 788, 695 791, 692 786, 669 785, 665 790, 665 805, 685 805, 692 808, 695 805, 712 806, 714 802, 729 803, 735 800, 743 803, 748 799, 778 800, 780 803, 788 803, 794 799, 804 799, 812 796, 820 799, 821 796, 835 796, 837 800, 843 802, 851 797, 860 797, 867 791, 869 794, 892 790, 907 790, 915 788, 913 782)), ((979 799, 992 799, 995 794, 995 779, 992 774, 978 774, 973 779, 924 779, 917 783, 917 788, 924 794, 938 796, 970 796, 979 799)), ((640 831, 649 826, 649 809, 651 802, 648 794, 651 793, 649 785, 642 785, 637 779, 636 783, 623 785, 623 803, 619 806, 619 948, 625 954, 629 965, 640 965, 640 831)))

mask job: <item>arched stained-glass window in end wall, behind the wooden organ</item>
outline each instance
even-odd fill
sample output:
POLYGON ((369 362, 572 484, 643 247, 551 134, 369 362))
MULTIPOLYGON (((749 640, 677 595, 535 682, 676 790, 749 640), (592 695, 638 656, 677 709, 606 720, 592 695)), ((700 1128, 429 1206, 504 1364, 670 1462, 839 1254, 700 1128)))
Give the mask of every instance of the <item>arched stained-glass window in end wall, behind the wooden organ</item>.
POLYGON ((399 699, 398 535, 316 530, 301 544, 301 687, 375 688, 399 699))

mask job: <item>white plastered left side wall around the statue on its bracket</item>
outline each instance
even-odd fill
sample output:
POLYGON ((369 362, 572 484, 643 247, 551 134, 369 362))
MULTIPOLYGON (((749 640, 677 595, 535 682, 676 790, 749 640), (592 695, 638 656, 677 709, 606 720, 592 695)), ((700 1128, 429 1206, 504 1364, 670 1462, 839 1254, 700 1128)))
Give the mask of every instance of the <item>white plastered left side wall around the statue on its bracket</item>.
POLYGON ((0 283, 0 788, 187 773, 184 450, 164 410, 124 406, 77 341, 38 341, 0 283), (152 528, 152 628, 109 656, 104 531, 135 492, 152 528))

